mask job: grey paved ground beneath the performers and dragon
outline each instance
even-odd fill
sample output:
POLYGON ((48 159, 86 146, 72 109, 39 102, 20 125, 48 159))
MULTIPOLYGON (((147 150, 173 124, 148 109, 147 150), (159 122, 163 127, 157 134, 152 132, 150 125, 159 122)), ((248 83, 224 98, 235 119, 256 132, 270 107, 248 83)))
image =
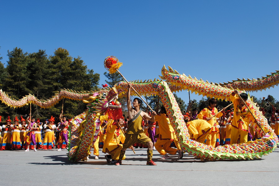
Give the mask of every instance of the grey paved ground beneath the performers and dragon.
MULTIPOLYGON (((0 185, 277 185, 279 184, 279 149, 261 160, 200 161, 184 155, 178 160, 160 160, 147 166, 146 149, 126 151, 121 166, 100 159, 72 163, 67 151, 0 151, 0 185), (18 176, 19 175, 19 176, 18 176)), ((93 154, 93 151, 92 151, 93 154)))

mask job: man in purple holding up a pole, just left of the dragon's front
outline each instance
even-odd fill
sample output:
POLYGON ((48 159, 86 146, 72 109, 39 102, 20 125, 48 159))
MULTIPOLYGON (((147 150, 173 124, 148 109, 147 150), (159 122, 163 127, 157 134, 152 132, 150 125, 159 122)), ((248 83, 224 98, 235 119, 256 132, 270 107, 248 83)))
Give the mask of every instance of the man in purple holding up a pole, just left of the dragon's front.
POLYGON ((63 110, 61 111, 61 114, 59 116, 60 120, 60 135, 59 135, 59 149, 57 151, 61 151, 62 149, 67 148, 69 140, 68 140, 68 128, 69 128, 69 122, 66 120, 66 116, 63 116, 63 110), (65 143, 65 144, 64 144, 65 143))

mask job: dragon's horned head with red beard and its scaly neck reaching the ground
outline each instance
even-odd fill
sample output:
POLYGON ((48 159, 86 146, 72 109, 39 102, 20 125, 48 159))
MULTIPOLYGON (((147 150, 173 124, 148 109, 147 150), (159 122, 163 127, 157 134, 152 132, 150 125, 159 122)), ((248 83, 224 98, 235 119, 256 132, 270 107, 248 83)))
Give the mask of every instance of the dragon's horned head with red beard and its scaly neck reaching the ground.
POLYGON ((92 145, 95 143, 101 125, 101 115, 106 120, 116 120, 122 117, 121 104, 117 101, 118 91, 112 87, 109 91, 95 92, 89 97, 84 97, 83 103, 87 104, 88 111, 74 117, 70 121, 71 142, 69 159, 72 161, 86 160, 92 145), (85 119, 84 121, 82 121, 85 119), (82 122, 81 122, 82 121, 82 122), (77 123, 80 123, 77 127, 77 123))

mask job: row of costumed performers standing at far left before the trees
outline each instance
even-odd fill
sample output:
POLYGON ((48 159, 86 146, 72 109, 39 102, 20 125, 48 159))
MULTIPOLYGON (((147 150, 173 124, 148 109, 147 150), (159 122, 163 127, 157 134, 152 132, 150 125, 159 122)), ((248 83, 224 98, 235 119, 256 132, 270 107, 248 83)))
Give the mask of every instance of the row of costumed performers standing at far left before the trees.
POLYGON ((62 117, 62 113, 59 116, 60 122, 57 126, 54 124, 55 119, 52 116, 44 124, 40 122, 40 119, 31 117, 31 114, 26 119, 21 116, 20 120, 15 116, 13 123, 8 116, 6 124, 0 126, 2 133, 0 150, 24 149, 29 151, 30 149, 37 151, 37 149, 56 147, 60 151, 67 148, 69 121, 65 116, 62 117))

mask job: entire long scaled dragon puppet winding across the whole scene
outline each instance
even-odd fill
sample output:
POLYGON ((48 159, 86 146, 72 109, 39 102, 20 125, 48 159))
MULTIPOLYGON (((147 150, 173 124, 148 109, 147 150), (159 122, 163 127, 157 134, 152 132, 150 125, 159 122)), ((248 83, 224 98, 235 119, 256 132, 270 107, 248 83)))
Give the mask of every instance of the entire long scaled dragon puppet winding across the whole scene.
MULTIPOLYGON (((255 91, 277 85, 279 81, 278 71, 277 73, 273 73, 272 75, 264 78, 265 81, 262 81, 262 79, 253 79, 249 81, 248 79, 247 81, 249 83, 247 81, 234 81, 232 84, 229 84, 230 82, 227 84, 217 84, 204 82, 203 80, 197 80, 197 78, 179 74, 170 67, 169 70, 166 70, 164 66, 162 68, 161 78, 165 81, 155 79, 154 81, 134 81, 131 83, 135 90, 142 95, 160 96, 160 99, 166 108, 166 112, 170 116, 171 125, 175 129, 175 134, 177 135, 179 143, 184 151, 187 151, 188 153, 193 154, 193 156, 200 159, 259 159, 262 157, 262 155, 267 155, 268 153, 272 152, 274 148, 276 148, 276 144, 278 143, 277 136, 264 119, 264 116, 259 111, 259 108, 256 107, 255 103, 253 103, 253 100, 250 98, 247 101, 249 104, 254 105, 253 107, 255 115, 258 117, 261 125, 261 127, 256 124, 253 125, 255 131, 261 137, 260 140, 241 144, 217 146, 215 148, 191 140, 188 133, 188 128, 186 127, 183 120, 184 117, 172 92, 188 90, 199 95, 230 101, 229 95, 235 88, 239 88, 242 91, 255 91), (262 86, 258 85, 257 83, 261 84, 262 86)), ((58 94, 47 101, 38 100, 33 95, 28 95, 20 100, 15 100, 11 99, 8 95, 2 92, 2 90, 0 91, 0 96, 2 102, 11 107, 22 107, 26 104, 33 103, 42 108, 48 108, 63 98, 85 100, 85 103, 88 103, 88 112, 76 116, 70 122, 71 142, 69 157, 73 161, 79 161, 86 158, 88 152, 90 151, 91 145, 94 143, 94 139, 100 125, 99 116, 101 114, 112 116, 112 114, 109 114, 106 111, 115 110, 117 107, 119 108, 119 105, 112 105, 110 102, 115 100, 117 94, 119 97, 124 96, 126 94, 127 87, 128 85, 126 82, 119 82, 114 86, 115 89, 113 88, 113 90, 104 89, 97 92, 76 92, 71 90, 61 90, 58 94), (117 93, 117 91, 119 92, 117 93), (101 96, 99 98, 91 99, 94 93, 101 96), (111 108, 109 108, 109 105, 111 105, 111 108), (81 131, 79 131, 79 122, 81 122, 80 125, 84 127, 82 134, 80 133, 81 131)), ((135 92, 131 91, 131 94, 135 95, 135 92)))

